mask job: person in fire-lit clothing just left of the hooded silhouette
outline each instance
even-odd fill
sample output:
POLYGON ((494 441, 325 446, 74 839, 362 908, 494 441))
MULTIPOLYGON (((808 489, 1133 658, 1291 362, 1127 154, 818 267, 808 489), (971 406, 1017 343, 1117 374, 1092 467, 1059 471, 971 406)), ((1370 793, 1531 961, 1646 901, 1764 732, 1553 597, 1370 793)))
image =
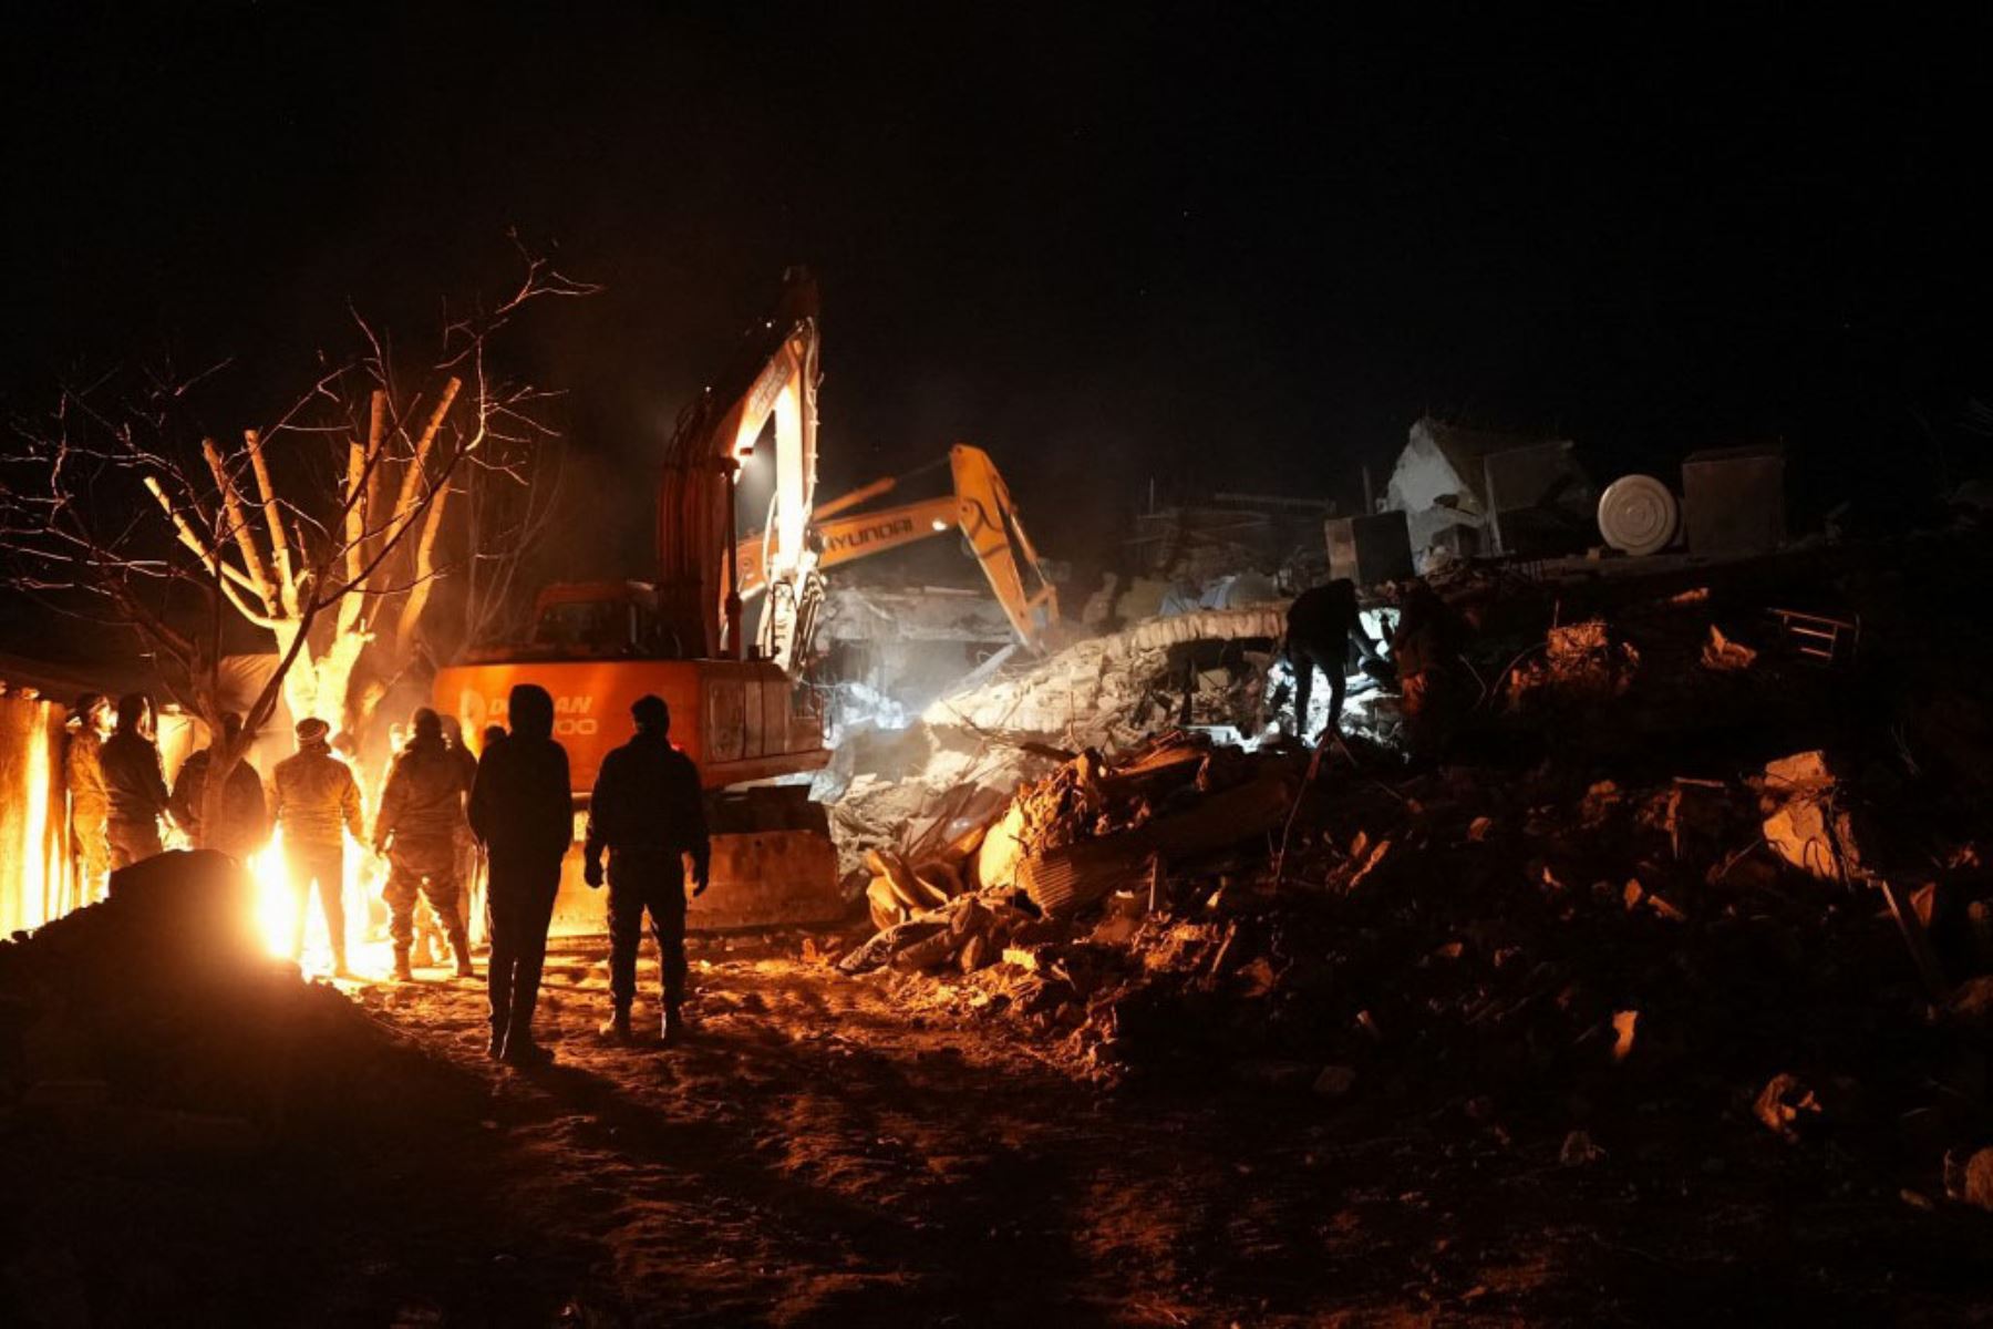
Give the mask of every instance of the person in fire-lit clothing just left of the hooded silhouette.
POLYGON ((375 817, 375 853, 389 857, 389 934, 395 938, 395 976, 415 978, 409 946, 415 942, 415 903, 442 921, 456 956, 456 976, 470 978, 470 938, 456 913, 456 827, 464 819, 462 771, 442 745, 442 721, 427 705, 411 719, 409 743, 395 757, 375 817))

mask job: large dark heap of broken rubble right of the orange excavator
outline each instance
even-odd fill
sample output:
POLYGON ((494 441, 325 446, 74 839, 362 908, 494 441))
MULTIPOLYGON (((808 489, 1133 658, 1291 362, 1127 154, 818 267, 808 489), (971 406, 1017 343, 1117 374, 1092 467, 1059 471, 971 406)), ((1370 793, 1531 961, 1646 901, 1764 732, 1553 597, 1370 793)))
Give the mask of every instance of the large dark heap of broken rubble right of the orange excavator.
POLYGON ((1949 1150, 1965 1188, 1993 1176, 1987 749, 1917 725, 1933 642, 1816 664, 1734 606, 1664 588, 1521 650, 1487 626, 1481 699, 1411 765, 1086 747, 877 853, 881 930, 839 964, 1088 1076, 1228 1070, 1578 1156, 1726 1120, 1931 1176, 1949 1150))

